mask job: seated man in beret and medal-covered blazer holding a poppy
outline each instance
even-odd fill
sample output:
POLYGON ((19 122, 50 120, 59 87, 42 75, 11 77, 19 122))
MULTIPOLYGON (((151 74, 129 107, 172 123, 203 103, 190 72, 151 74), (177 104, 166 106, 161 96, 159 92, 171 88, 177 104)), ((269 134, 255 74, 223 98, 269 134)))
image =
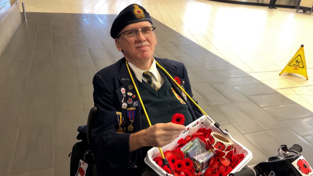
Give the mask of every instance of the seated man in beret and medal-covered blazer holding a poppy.
POLYGON ((152 56, 155 29, 149 13, 137 4, 122 10, 112 24, 111 37, 124 58, 100 70, 93 80, 99 111, 91 129, 90 148, 99 176, 151 175, 144 162, 147 151, 171 143, 186 125, 202 116, 169 77, 176 77, 192 97, 185 66, 152 56), (175 113, 185 116, 183 125, 171 123, 175 113))

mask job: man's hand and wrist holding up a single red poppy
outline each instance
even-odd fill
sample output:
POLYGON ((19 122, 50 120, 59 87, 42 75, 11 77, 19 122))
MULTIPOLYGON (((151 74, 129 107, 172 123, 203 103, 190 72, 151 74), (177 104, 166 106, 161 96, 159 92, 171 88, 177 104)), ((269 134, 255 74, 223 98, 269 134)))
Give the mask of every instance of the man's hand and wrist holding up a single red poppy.
POLYGON ((175 123, 157 123, 151 127, 131 134, 130 151, 145 146, 163 147, 175 140, 186 127, 175 123))

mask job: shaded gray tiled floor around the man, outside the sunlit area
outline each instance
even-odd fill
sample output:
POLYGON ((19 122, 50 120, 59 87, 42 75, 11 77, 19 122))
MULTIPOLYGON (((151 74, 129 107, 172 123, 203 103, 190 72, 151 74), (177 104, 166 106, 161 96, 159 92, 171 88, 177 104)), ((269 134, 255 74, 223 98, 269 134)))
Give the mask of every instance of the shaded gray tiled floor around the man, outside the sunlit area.
MULTIPOLYGON (((115 16, 28 13, 0 56, 3 175, 69 175, 67 155, 77 142, 77 127, 86 124, 93 107, 92 78, 122 57, 109 35, 115 16)), ((294 143, 313 163, 312 112, 153 21, 154 56, 186 65, 194 98, 252 151, 248 164, 294 143)))

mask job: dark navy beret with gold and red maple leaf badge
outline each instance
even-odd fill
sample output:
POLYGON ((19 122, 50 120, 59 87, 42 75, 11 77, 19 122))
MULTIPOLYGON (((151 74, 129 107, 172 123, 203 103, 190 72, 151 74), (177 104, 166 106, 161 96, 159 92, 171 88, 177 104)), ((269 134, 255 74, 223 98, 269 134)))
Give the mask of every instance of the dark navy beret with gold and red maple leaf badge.
POLYGON ((147 10, 137 4, 127 6, 115 18, 111 27, 111 37, 115 39, 117 34, 127 25, 140 21, 149 21, 152 24, 151 17, 147 10))

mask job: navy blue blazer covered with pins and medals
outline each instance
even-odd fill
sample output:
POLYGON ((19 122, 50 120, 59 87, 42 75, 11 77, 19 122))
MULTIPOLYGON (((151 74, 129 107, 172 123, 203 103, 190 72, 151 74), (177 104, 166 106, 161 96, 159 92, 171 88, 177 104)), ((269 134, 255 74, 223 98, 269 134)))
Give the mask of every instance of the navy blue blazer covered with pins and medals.
MULTIPOLYGON (((161 58, 155 59, 173 78, 178 77, 181 79, 181 82, 185 82, 185 91, 192 97, 186 67, 177 61, 161 58)), ((138 87, 136 76, 132 70, 131 74, 138 87)), ((163 74, 167 76, 166 73, 163 74)), ((168 78, 168 80, 175 89, 175 92, 182 97, 182 91, 177 88, 170 78, 168 78)), ((135 88, 131 90, 128 88, 128 86, 133 85, 133 83, 126 67, 125 58, 120 59, 118 62, 96 73, 93 79, 93 85, 94 103, 98 108, 98 114, 91 127, 90 149, 96 157, 98 176, 140 175, 140 172, 147 166, 144 163, 147 149, 139 148, 133 152, 129 151, 129 136, 132 133, 142 130, 141 104, 139 98, 136 97, 132 99, 134 102, 139 102, 139 105, 136 106, 135 121, 132 123, 134 127, 132 132, 127 130, 130 120, 127 118, 126 109, 121 108, 123 99, 121 88, 126 89, 126 100, 129 98, 127 92, 137 94, 135 88), (116 112, 122 112, 126 120, 125 133, 116 133, 116 112)), ((202 116, 201 111, 192 102, 188 100, 186 103, 193 120, 202 116)))

